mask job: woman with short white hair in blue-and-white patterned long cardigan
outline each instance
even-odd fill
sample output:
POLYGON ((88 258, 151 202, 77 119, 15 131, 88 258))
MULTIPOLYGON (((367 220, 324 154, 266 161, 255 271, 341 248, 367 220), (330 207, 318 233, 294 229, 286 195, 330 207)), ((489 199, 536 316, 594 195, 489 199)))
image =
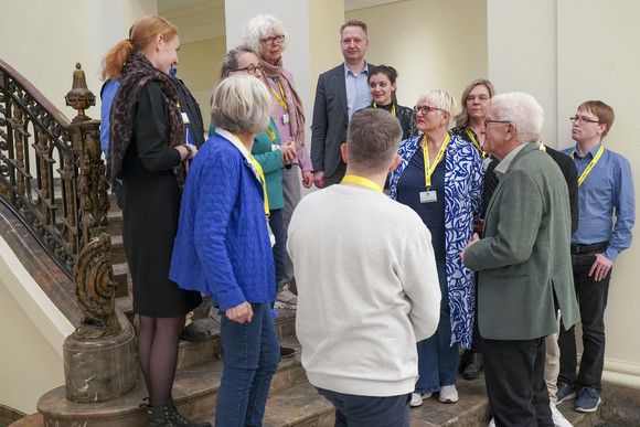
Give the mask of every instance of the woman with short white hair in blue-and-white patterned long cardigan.
POLYGON ((418 375, 412 406, 439 391, 442 403, 458 401, 458 344, 469 348, 473 322, 473 274, 460 253, 473 236, 482 207, 482 158, 447 131, 455 99, 445 90, 424 93, 416 110, 422 136, 405 139, 392 172, 393 199, 412 207, 431 233, 440 282, 440 321, 434 337, 418 342, 418 375))

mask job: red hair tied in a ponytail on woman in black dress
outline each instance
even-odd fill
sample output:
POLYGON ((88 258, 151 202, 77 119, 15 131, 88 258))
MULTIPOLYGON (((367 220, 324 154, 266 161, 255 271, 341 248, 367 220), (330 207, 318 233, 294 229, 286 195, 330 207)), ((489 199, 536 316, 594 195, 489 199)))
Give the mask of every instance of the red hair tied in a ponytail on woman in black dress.
POLYGON ((131 28, 130 38, 119 41, 105 56, 103 81, 117 79, 131 52, 145 51, 159 34, 164 40, 171 40, 178 35, 178 28, 164 18, 154 14, 140 18, 131 28))

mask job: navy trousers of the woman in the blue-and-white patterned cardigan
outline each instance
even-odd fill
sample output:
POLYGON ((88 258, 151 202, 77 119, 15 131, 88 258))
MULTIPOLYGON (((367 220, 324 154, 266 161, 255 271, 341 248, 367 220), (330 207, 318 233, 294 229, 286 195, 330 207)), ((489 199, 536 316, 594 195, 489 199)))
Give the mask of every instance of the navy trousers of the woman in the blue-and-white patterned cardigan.
POLYGON ((458 345, 451 343, 451 317, 446 261, 436 260, 440 282, 440 321, 433 337, 418 342, 418 382, 416 393, 433 393, 456 384, 458 345))

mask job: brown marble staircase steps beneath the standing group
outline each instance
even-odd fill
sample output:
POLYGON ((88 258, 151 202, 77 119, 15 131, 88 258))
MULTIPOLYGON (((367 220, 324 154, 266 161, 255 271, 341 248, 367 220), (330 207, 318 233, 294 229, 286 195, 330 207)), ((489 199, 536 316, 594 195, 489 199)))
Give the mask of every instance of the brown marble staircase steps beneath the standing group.
MULTIPOLYGON (((121 212, 117 209, 115 201, 111 201, 111 206, 109 233, 113 236, 114 273, 118 284, 116 303, 132 321, 134 313, 129 298, 130 280, 120 235, 121 212)), ((211 301, 205 299, 196 309, 194 319, 198 323, 213 328, 212 337, 202 342, 180 342, 173 398, 184 416, 194 420, 209 420, 214 425, 215 401, 222 376, 222 345, 217 325, 207 318, 210 308, 211 301)), ((333 426, 332 405, 318 395, 313 386, 308 383, 301 366, 300 345, 295 337, 295 310, 278 310, 275 321, 280 341, 282 345, 295 348, 297 352, 294 357, 281 361, 273 378, 264 426, 333 426)), ((143 426, 147 415, 139 405, 147 396, 147 391, 141 375, 138 377, 132 392, 118 399, 104 403, 72 403, 66 399, 65 388, 61 386, 41 397, 38 414, 24 417, 11 426, 143 426)), ((480 376, 473 381, 460 377, 457 387, 460 401, 456 404, 441 404, 436 395, 426 399, 420 407, 412 408, 412 427, 487 426, 490 413, 483 377, 480 376)), ((607 399, 606 394, 604 394, 604 399, 607 399)), ((574 412, 570 404, 563 404, 559 409, 574 426, 595 426, 601 419, 600 410, 594 414, 580 414, 574 412)))

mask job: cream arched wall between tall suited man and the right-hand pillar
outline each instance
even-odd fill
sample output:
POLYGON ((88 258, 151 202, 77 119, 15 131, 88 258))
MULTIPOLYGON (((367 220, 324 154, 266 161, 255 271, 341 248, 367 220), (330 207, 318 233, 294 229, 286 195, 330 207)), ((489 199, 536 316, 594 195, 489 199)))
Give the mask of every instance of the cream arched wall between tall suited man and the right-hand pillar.
POLYGON ((487 77, 484 1, 409 0, 352 10, 344 17, 366 22, 367 61, 398 71, 402 105, 414 106, 429 88, 445 89, 459 102, 469 82, 487 77))

